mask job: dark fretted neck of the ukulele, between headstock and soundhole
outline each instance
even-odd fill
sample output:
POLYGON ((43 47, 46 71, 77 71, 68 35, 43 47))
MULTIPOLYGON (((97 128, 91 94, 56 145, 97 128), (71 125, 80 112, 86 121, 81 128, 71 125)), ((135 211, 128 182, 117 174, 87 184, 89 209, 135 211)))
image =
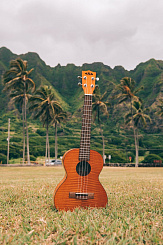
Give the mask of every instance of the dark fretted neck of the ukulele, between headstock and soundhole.
POLYGON ((92 95, 84 96, 82 130, 79 150, 79 161, 89 161, 92 118, 92 95))

